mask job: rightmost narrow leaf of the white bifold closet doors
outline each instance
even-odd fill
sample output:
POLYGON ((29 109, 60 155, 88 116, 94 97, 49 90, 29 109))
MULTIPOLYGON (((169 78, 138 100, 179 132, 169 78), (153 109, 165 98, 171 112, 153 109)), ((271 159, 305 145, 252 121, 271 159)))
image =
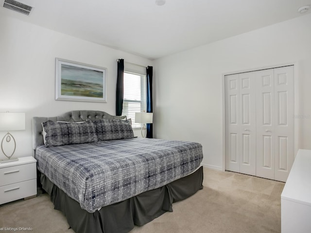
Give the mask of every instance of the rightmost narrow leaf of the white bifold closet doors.
POLYGON ((294 163, 294 67, 274 69, 275 180, 286 182, 294 163))

